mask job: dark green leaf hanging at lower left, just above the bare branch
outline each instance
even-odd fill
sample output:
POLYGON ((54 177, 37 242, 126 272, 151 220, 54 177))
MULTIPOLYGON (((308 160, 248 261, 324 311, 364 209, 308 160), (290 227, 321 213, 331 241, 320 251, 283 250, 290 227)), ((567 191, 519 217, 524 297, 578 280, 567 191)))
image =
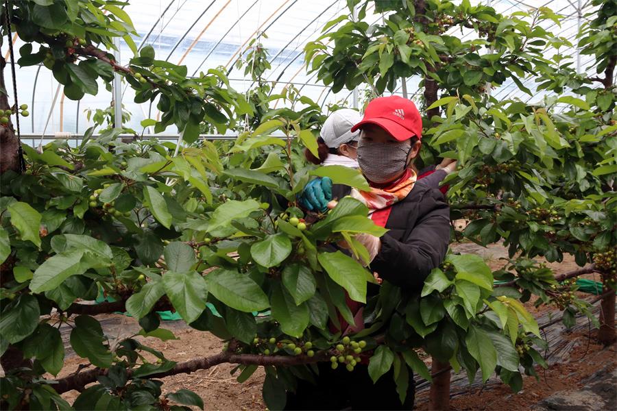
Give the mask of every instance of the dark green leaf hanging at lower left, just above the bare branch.
POLYGON ((71 331, 71 346, 78 356, 88 358, 101 368, 109 368, 113 354, 103 345, 106 341, 101 324, 91 316, 80 315, 75 318, 75 327, 71 331))

